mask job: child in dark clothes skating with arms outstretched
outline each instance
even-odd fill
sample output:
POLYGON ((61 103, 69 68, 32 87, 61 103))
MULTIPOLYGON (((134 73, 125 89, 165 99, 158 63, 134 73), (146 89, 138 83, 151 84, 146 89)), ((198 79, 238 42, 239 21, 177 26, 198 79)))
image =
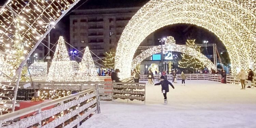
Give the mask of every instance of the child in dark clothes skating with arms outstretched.
POLYGON ((171 82, 169 82, 168 80, 165 79, 165 76, 161 76, 160 83, 156 83, 155 85, 162 86, 163 97, 165 97, 164 104, 167 104, 167 96, 166 95, 169 92, 169 85, 171 85, 173 89, 174 89, 174 86, 172 85, 171 82))

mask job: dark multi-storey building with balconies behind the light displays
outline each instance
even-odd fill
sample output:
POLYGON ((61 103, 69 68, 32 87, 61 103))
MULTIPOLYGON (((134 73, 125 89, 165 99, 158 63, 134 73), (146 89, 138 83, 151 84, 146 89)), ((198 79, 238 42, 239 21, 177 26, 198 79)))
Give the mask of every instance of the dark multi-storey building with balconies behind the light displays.
MULTIPOLYGON (((125 26, 139 9, 114 8, 73 11, 74 14, 70 16, 70 44, 79 51, 88 46, 93 53, 103 58, 105 52, 117 47, 125 26)), ((151 45, 154 45, 154 33, 149 35, 140 46, 151 45)), ((78 54, 81 58, 82 55, 83 52, 78 54)), ((94 60, 98 59, 96 55, 92 55, 94 60)), ((75 60, 81 61, 78 57, 75 57, 75 60)))

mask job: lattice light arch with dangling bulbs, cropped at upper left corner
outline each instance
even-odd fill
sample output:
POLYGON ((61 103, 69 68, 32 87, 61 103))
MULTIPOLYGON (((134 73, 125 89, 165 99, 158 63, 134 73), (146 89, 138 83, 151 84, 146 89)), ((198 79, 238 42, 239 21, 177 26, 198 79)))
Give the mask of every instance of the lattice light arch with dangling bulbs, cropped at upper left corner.
MULTIPOLYGON (((20 38, 26 49, 23 61, 16 72, 22 67, 42 42, 46 35, 54 28, 59 20, 73 8, 80 0, 8 0, 0 8, 0 52, 13 54, 15 31, 20 30, 20 38), (17 28, 16 24, 20 24, 17 28)), ((7 56, 7 55, 6 55, 7 56)), ((11 59, 11 58, 9 58, 11 59)), ((10 67, 4 67, 8 69, 10 67)), ((13 78, 16 77, 14 75, 13 78)))

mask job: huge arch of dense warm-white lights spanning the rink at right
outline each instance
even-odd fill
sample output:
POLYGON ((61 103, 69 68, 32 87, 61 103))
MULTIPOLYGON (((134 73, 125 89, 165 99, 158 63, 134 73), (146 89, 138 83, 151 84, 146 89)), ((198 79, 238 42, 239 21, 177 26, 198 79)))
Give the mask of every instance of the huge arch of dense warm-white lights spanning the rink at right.
MULTIPOLYGON (((130 76, 134 53, 152 32, 173 24, 194 24, 213 32, 226 46, 232 72, 256 59, 256 1, 151 0, 129 21, 118 42, 115 69, 130 76)), ((254 66, 255 70, 255 66, 254 66)))

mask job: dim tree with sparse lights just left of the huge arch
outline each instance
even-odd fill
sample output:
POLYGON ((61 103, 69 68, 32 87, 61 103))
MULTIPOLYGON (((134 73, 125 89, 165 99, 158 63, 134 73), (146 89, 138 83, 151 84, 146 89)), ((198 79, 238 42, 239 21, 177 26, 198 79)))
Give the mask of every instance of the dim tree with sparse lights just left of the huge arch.
POLYGON ((110 49, 109 52, 105 53, 106 58, 104 59, 104 66, 109 69, 115 67, 115 49, 110 49))

